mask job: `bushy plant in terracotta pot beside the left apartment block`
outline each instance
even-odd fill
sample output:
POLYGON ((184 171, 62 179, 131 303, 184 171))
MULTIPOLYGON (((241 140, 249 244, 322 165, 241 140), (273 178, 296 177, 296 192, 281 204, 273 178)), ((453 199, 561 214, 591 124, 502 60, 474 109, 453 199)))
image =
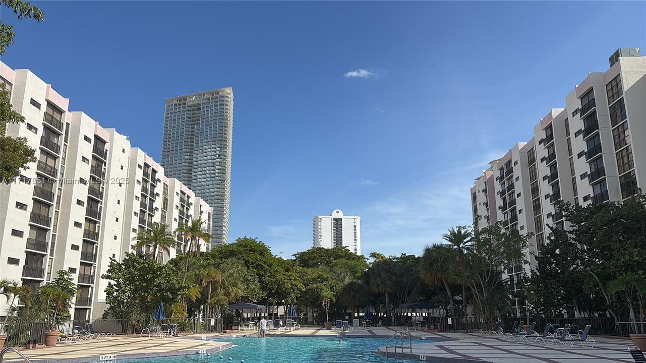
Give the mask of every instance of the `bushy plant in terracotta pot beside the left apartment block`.
POLYGON ((39 287, 37 295, 34 296, 37 304, 32 302, 32 307, 37 309, 37 313, 47 323, 46 346, 56 346, 60 333, 56 328, 60 322, 69 320, 74 295, 76 295, 76 285, 72 282, 72 274, 69 271, 60 270, 56 273, 56 278, 39 287))

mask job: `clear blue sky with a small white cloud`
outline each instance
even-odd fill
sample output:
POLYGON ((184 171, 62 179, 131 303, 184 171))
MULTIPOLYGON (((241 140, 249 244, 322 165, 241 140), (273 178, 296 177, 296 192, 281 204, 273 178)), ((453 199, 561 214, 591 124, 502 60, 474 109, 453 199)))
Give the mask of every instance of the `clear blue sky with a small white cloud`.
POLYGON ((233 87, 229 239, 285 256, 337 208, 364 254, 420 253, 471 222, 488 161, 646 46, 643 1, 36 4, 43 23, 1 10, 3 62, 156 160, 165 98, 233 87))

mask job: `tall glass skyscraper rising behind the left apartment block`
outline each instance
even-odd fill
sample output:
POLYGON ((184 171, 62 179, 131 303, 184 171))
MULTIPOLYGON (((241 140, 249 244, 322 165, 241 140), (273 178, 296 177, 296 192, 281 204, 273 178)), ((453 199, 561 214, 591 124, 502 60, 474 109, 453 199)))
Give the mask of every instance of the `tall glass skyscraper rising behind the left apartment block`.
POLYGON ((229 235, 232 138, 231 87, 166 99, 161 166, 213 207, 212 245, 229 235))

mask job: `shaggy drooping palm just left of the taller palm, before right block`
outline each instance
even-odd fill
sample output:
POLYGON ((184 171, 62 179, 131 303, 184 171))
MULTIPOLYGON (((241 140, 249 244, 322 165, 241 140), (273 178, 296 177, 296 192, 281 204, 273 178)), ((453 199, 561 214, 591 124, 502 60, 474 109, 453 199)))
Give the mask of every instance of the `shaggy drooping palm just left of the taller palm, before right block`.
POLYGON ((427 284, 443 284, 451 306, 451 316, 455 318, 455 303, 450 283, 455 280, 455 251, 447 245, 426 246, 422 254, 420 275, 427 284))

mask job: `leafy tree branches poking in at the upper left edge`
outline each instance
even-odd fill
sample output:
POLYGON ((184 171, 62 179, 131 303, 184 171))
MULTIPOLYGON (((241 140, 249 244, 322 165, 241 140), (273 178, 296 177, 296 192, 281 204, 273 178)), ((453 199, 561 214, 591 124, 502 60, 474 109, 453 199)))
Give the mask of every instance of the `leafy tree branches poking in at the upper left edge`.
MULTIPOLYGON (((18 19, 31 18, 43 21, 45 13, 37 6, 22 0, 0 0, 0 3, 13 10, 18 19)), ((14 43, 14 30, 12 25, 3 23, 0 19, 0 57, 5 54, 6 48, 14 43)), ((6 136, 8 124, 25 122, 25 117, 16 112, 10 100, 9 90, 5 84, 0 84, 0 182, 10 183, 17 178, 21 171, 28 169, 27 164, 36 161, 36 150, 27 145, 26 138, 12 138, 6 136)))

